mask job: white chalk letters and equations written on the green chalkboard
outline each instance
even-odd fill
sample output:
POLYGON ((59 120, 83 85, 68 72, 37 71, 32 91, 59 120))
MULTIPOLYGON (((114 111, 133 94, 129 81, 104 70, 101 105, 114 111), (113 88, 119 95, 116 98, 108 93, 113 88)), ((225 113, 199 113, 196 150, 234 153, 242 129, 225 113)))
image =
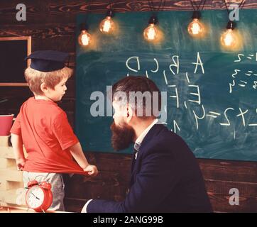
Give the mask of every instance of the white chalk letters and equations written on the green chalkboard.
MULTIPOLYGON (((242 60, 257 61, 257 53, 256 53, 256 55, 238 54, 237 58, 238 59, 234 60, 234 62, 241 62, 242 60)), ((234 116, 236 118, 240 118, 241 124, 244 127, 257 126, 257 123, 255 123, 255 122, 250 122, 248 120, 246 121, 247 116, 252 116, 251 110, 249 110, 249 109, 243 109, 241 106, 238 106, 238 108, 236 108, 236 109, 234 107, 227 106, 222 111, 221 111, 221 109, 219 109, 219 111, 216 111, 214 109, 210 109, 209 106, 205 106, 202 103, 201 88, 199 87, 198 84, 190 83, 190 77, 192 77, 192 75, 197 74, 197 77, 199 77, 199 76, 203 76, 205 74, 204 63, 202 61, 200 52, 197 52, 196 61, 192 62, 192 65, 195 65, 194 72, 185 72, 185 81, 187 82, 187 84, 186 84, 187 91, 190 96, 190 99, 187 99, 187 100, 182 100, 183 97, 180 96, 180 92, 179 92, 180 89, 177 87, 177 84, 172 84, 172 82, 170 82, 170 79, 168 79, 168 77, 170 75, 173 75, 173 76, 175 76, 177 74, 181 75, 180 67, 182 67, 182 66, 180 65, 180 56, 173 55, 172 57, 170 57, 171 62, 170 62, 170 65, 168 65, 168 70, 162 69, 160 67, 157 57, 153 57, 150 61, 153 62, 153 64, 151 65, 153 67, 151 67, 150 70, 144 70, 143 73, 145 73, 146 77, 148 77, 148 78, 149 78, 148 72, 158 74, 158 72, 160 71, 160 73, 163 74, 163 79, 166 84, 166 90, 167 90, 167 92, 170 93, 167 95, 167 97, 172 99, 173 101, 175 101, 175 107, 177 109, 181 109, 181 108, 185 107, 186 111, 192 111, 192 113, 190 115, 194 116, 194 118, 195 118, 195 129, 197 131, 200 128, 200 126, 199 126, 200 121, 204 120, 205 118, 217 119, 217 123, 219 124, 219 126, 229 127, 229 126, 231 126, 231 118, 229 118, 229 115, 231 115, 231 114, 234 114, 234 116), (189 109, 188 104, 190 102, 197 104, 198 108, 195 109, 196 106, 194 106, 194 109, 192 109, 192 108, 189 109), (219 118, 224 119, 224 120, 219 121, 219 118)), ((128 57, 125 64, 126 64, 126 68, 128 70, 127 75, 129 75, 131 72, 132 73, 133 72, 141 72, 142 67, 141 67, 140 57, 138 57, 138 56, 128 57)), ((229 82, 229 94, 231 94, 233 92, 233 89, 236 86, 244 88, 248 84, 251 84, 252 89, 256 89, 257 88, 257 77, 256 76, 257 76, 257 72, 254 72, 251 69, 247 69, 247 70, 245 70, 245 69, 239 70, 238 68, 234 69, 234 71, 231 74, 232 81, 229 82), (244 77, 246 77, 246 79, 244 79, 244 77), (251 79, 251 81, 249 81, 249 78, 253 78, 253 79, 251 79)), ((185 86, 185 84, 183 86, 185 86)), ((165 106, 165 111, 167 111, 167 109, 169 109, 168 106, 165 106)), ((257 109, 256 109, 256 114, 257 114, 257 109)), ((165 124, 167 124, 167 123, 165 123, 165 124)), ((175 133, 177 131, 181 131, 180 122, 177 121, 176 119, 173 119, 173 128, 171 129, 171 131, 174 131, 175 133)), ((235 139, 235 135, 234 135, 234 139, 235 139)))

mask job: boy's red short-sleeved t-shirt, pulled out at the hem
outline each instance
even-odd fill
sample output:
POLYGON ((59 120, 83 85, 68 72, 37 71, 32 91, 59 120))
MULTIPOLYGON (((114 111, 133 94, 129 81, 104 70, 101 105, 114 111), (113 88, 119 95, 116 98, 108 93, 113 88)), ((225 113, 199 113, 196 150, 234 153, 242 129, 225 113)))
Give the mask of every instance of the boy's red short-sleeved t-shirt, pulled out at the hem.
POLYGON ((21 135, 28 153, 23 170, 87 174, 69 148, 79 142, 65 111, 53 101, 29 98, 23 103, 11 133, 21 135))

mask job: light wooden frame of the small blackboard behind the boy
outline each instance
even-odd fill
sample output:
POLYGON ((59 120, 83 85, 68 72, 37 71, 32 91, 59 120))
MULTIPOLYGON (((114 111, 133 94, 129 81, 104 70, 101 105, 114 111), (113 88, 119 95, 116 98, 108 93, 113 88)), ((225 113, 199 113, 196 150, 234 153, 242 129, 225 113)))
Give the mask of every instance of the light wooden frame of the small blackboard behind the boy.
MULTIPOLYGON (((27 40, 27 55, 31 54, 31 36, 18 36, 18 37, 0 37, 1 41, 13 41, 13 40, 27 40)), ((31 65, 31 60, 28 60, 27 67, 31 65)), ((28 83, 21 83, 21 82, 8 82, 8 83, 1 83, 0 87, 28 87, 28 83)))

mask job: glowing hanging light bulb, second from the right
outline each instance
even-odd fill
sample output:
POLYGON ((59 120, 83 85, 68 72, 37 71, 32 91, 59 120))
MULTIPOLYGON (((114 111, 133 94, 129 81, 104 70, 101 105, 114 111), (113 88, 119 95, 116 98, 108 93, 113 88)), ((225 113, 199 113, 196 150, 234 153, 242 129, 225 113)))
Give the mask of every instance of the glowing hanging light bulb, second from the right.
POLYGON ((199 11, 194 11, 192 16, 192 22, 188 25, 187 31, 192 37, 199 38, 205 35, 206 28, 204 24, 199 21, 201 14, 199 11))

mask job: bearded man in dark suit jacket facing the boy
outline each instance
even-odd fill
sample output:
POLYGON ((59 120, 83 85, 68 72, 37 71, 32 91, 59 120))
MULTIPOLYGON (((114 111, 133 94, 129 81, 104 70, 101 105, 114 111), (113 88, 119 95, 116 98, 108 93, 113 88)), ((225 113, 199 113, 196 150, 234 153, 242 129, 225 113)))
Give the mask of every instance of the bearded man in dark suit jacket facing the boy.
POLYGON ((89 199, 82 212, 212 212, 195 156, 158 121, 161 97, 156 84, 129 76, 114 84, 112 94, 112 146, 123 150, 133 143, 134 148, 130 187, 124 201, 89 199), (134 99, 137 92, 146 95, 134 99))

